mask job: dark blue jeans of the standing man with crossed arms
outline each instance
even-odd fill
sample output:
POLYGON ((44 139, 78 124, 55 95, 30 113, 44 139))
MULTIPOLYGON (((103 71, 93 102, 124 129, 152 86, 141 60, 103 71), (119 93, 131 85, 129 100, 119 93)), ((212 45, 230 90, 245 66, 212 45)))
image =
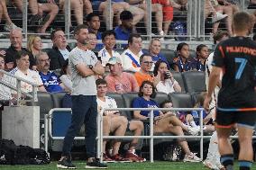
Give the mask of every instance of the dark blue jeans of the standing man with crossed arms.
POLYGON ((96 156, 96 95, 72 95, 72 117, 66 133, 62 156, 69 157, 74 138, 83 123, 86 127, 87 157, 96 156))

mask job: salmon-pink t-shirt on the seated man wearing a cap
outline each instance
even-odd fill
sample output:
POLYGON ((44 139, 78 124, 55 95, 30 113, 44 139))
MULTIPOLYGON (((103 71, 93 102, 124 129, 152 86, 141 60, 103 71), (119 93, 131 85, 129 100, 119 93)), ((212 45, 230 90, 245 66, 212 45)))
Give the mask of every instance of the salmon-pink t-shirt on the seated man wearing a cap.
POLYGON ((106 76, 108 92, 125 94, 129 92, 139 92, 139 86, 135 77, 130 73, 122 73, 121 77, 106 76))

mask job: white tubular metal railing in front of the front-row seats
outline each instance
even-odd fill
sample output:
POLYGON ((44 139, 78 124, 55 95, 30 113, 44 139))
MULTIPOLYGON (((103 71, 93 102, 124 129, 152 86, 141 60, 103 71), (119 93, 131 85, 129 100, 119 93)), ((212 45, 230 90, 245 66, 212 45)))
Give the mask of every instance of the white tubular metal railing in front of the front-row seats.
MULTIPOLYGON (((205 136, 203 131, 203 108, 115 108, 115 109, 104 109, 97 116, 97 157, 100 158, 100 161, 103 161, 103 139, 150 139, 150 161, 153 160, 153 142, 154 139, 200 139, 200 158, 203 160, 203 147, 204 139, 210 139, 211 136, 205 136), (149 136, 103 136, 103 112, 105 111, 150 111, 150 135, 149 136), (200 124, 200 135, 198 136, 155 136, 153 134, 153 111, 198 111, 199 114, 199 124, 200 124)), ((64 139, 64 137, 54 137, 52 135, 51 128, 51 119, 53 112, 72 112, 70 108, 54 108, 51 109, 49 114, 44 115, 44 149, 48 152, 48 142, 50 139, 64 139)), ((238 136, 231 136, 231 139, 238 139, 238 136)), ((85 137, 75 137, 75 139, 85 139, 85 137)), ((256 139, 256 136, 253 136, 252 139, 256 139)))

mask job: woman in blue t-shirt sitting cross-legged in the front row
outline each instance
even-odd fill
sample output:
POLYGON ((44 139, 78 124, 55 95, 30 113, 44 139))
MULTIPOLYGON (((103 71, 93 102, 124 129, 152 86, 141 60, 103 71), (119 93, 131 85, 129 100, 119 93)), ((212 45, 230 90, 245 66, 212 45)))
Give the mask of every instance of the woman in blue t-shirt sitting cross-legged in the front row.
MULTIPOLYGON (((159 104, 156 103, 152 98, 156 95, 156 89, 150 81, 142 82, 139 91, 139 97, 133 100, 133 108, 158 108, 159 104)), ((133 116, 135 119, 146 120, 149 117, 149 111, 134 111, 133 116)), ((160 112, 154 111, 154 133, 173 133, 178 136, 183 136, 183 128, 181 124, 178 124, 180 121, 171 121, 175 119, 176 116, 173 112, 160 112)), ((186 127, 189 130, 192 130, 186 127)), ((185 129, 185 127, 184 127, 185 129)), ((201 159, 192 153, 188 148, 187 141, 185 139, 178 139, 178 145, 184 150, 185 157, 184 162, 200 162, 201 159)))

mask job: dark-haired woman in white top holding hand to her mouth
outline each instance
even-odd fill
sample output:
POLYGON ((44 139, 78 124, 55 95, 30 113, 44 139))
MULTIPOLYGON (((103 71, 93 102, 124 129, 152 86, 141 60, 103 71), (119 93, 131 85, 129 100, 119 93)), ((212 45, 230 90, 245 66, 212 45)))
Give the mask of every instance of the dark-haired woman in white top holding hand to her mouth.
POLYGON ((159 60, 156 62, 154 75, 160 74, 160 82, 156 85, 158 92, 170 94, 173 92, 181 92, 181 87, 169 72, 168 64, 165 61, 159 60))

